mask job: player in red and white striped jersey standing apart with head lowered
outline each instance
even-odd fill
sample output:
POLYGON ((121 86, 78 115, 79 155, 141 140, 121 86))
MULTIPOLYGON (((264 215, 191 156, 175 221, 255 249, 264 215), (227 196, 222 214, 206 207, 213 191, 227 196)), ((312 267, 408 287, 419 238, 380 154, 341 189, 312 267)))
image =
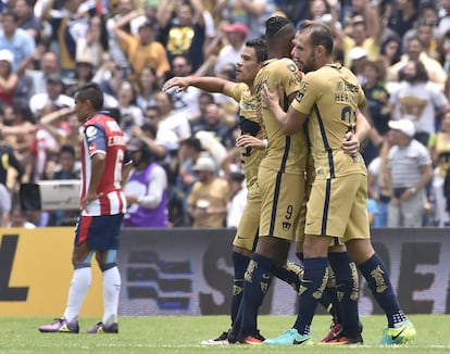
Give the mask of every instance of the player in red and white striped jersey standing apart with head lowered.
POLYGON ((78 333, 78 314, 91 282, 93 254, 103 274, 103 319, 88 333, 117 333, 121 275, 115 262, 126 199, 123 184, 130 169, 123 132, 116 121, 99 112, 103 92, 89 83, 75 93, 75 112, 84 124, 80 215, 72 254, 74 274, 64 315, 41 332, 78 333))

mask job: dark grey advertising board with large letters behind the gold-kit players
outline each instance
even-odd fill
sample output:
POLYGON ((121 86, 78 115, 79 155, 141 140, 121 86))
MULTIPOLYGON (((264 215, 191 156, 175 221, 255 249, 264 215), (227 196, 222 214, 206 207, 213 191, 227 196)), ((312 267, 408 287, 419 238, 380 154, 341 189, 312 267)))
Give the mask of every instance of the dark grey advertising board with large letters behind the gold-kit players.
MULTIPOLYGON (((228 314, 233 238, 226 229, 124 229, 121 315, 228 314)), ((407 313, 450 313, 448 229, 374 229, 372 240, 407 313)), ((275 279, 260 314, 292 315, 296 302, 293 290, 275 279)), ((359 307, 362 315, 383 313, 363 279, 359 307)))

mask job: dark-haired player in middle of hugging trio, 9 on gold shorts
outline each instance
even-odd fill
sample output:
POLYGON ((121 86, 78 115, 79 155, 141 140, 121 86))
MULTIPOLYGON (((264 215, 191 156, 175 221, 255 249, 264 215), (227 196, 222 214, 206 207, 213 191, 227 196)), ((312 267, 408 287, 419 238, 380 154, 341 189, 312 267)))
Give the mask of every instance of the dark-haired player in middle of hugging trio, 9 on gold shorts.
MULTIPOLYGON (((263 85, 271 89, 278 84, 280 104, 289 102, 300 89, 300 72, 290 56, 291 40, 296 28, 282 16, 266 22, 268 60, 254 79, 254 92, 260 101, 263 85)), ((299 212, 304 197, 304 174, 308 143, 303 131, 286 136, 270 110, 259 106, 266 138, 266 154, 262 160, 258 184, 261 193, 260 229, 255 251, 247 268, 243 281, 241 311, 233 332, 247 344, 261 344, 258 338, 258 311, 278 267, 287 260, 295 238, 299 212)))

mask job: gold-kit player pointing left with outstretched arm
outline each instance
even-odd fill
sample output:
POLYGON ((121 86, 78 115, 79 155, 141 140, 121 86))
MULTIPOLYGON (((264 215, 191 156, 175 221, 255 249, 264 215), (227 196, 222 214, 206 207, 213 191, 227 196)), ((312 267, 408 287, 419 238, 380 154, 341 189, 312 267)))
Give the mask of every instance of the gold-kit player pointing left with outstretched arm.
MULTIPOLYGON (((163 90, 177 86, 178 91, 195 86, 209 92, 222 92, 239 102, 239 127, 241 137, 237 146, 241 148, 241 163, 248 189, 247 204, 243 210, 236 237, 234 239, 234 289, 232 300, 232 326, 235 323, 242 299, 243 275, 253 252, 260 223, 261 197, 258 186, 258 169, 265 155, 264 129, 262 119, 257 115, 258 100, 254 96, 253 80, 266 60, 265 41, 262 39, 249 40, 237 63, 236 80, 240 84, 216 77, 174 77, 167 80, 163 90)), ((280 265, 275 275, 299 290, 302 268, 293 263, 280 265)), ((261 340, 263 338, 255 333, 261 340)), ((218 338, 203 341, 203 344, 227 344, 227 332, 218 338)))

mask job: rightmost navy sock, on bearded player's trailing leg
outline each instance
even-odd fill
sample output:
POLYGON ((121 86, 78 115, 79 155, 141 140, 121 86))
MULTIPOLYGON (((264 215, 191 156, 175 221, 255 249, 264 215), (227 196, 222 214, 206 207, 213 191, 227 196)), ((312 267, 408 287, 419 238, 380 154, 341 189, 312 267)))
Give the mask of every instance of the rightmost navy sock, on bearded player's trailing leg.
POLYGON ((376 302, 384 309, 388 326, 395 327, 396 324, 407 320, 390 283, 388 270, 378 254, 375 253, 358 268, 367 281, 376 302))

